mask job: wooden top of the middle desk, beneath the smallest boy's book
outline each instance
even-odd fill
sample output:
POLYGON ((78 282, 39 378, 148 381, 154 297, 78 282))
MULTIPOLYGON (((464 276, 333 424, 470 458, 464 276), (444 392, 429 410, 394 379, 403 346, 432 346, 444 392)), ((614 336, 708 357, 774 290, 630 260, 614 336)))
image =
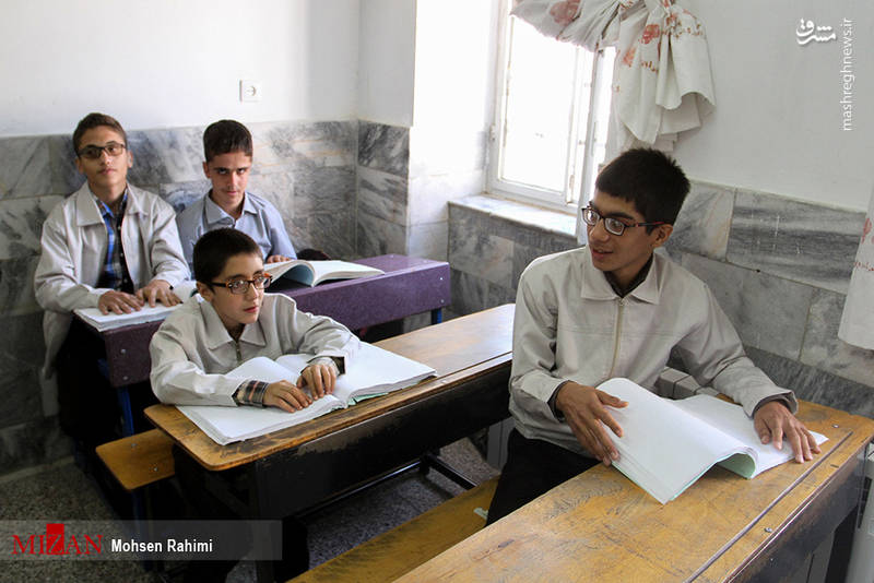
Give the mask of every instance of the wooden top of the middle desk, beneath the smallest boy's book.
POLYGON ((508 367, 512 357, 512 314, 513 305, 508 304, 381 341, 378 346, 430 366, 437 378, 259 438, 223 447, 174 406, 152 405, 145 415, 201 465, 227 469, 449 390, 495 368, 508 367))

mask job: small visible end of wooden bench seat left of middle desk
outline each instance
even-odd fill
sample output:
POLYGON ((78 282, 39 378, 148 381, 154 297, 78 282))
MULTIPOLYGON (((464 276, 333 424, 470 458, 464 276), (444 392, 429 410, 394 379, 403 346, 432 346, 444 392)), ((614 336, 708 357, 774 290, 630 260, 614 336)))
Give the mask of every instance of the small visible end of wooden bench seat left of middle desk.
POLYGON ((129 492, 175 473, 173 439, 161 429, 98 445, 97 455, 129 492))

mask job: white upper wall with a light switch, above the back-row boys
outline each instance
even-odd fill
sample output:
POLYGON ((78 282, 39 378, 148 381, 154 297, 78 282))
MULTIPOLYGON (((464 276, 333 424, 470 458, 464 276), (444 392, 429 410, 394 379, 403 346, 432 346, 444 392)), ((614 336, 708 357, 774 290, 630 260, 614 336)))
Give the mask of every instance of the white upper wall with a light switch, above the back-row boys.
MULTIPOLYGON (((369 0, 368 0, 369 1, 369 0)), ((356 117, 359 0, 4 0, 0 135, 356 117), (240 103, 239 80, 262 83, 240 103)))

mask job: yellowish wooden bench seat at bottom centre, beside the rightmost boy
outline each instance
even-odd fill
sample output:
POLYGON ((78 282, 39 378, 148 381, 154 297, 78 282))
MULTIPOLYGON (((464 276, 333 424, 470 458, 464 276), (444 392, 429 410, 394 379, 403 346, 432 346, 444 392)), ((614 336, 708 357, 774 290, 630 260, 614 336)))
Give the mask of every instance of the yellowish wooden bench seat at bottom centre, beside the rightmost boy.
POLYGON ((485 526, 474 510, 488 510, 496 486, 497 478, 485 481, 292 581, 393 581, 485 526))

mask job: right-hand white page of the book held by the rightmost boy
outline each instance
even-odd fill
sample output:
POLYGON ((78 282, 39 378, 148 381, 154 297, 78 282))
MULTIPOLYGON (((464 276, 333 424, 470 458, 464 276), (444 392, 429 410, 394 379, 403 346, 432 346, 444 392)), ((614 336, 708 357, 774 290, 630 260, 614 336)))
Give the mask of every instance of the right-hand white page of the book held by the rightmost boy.
MULTIPOLYGON (((746 447, 755 450, 757 463, 755 468, 737 466, 734 461, 727 461, 722 465, 744 477, 753 478, 766 469, 778 466, 794 457, 792 448, 783 442, 783 449, 778 450, 772 443, 763 444, 758 439, 758 433, 753 426, 753 419, 746 416, 741 405, 728 403, 711 395, 695 395, 688 398, 675 401, 674 405, 683 408, 687 413, 699 419, 719 428, 723 432, 731 433, 742 441, 746 447)), ((828 440, 822 433, 811 431, 816 439, 816 443, 828 440)))

